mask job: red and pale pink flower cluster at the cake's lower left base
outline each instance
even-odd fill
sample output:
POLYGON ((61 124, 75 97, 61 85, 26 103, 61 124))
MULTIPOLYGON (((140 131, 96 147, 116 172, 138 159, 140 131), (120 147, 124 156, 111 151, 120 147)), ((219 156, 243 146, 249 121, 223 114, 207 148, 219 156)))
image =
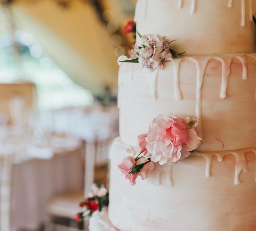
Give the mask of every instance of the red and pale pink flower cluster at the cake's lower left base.
POLYGON ((91 216, 95 211, 101 211, 103 207, 107 207, 109 204, 109 193, 104 185, 94 183, 91 187, 91 192, 88 194, 88 198, 85 198, 79 203, 84 211, 76 215, 75 220, 82 222, 86 216, 91 216))

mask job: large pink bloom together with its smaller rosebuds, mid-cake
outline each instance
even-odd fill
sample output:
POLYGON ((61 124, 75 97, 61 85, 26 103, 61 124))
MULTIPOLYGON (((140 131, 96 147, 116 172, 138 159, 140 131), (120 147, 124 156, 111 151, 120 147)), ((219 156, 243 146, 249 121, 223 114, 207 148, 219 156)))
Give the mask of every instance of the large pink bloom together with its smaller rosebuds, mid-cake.
POLYGON ((135 185, 138 176, 145 180, 154 168, 152 162, 160 165, 176 164, 187 158, 190 151, 201 144, 197 133, 197 120, 191 116, 185 119, 175 115, 157 115, 150 125, 148 132, 138 136, 139 154, 134 149, 127 149, 128 156, 122 160, 118 168, 135 185))

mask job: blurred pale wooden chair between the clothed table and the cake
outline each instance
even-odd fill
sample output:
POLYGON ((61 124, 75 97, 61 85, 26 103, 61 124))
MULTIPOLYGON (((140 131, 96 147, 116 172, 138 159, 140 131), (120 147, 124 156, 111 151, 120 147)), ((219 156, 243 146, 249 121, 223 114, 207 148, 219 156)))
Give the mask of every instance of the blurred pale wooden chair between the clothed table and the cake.
POLYGON ((49 221, 46 224, 46 231, 65 230, 63 225, 53 223, 54 217, 67 218, 70 221, 68 225, 76 226, 66 227, 66 230, 79 230, 79 225, 74 221, 74 217, 80 212, 79 202, 88 195, 94 181, 99 184, 107 183, 108 154, 113 139, 114 137, 111 137, 86 143, 84 190, 58 195, 48 203, 49 221))

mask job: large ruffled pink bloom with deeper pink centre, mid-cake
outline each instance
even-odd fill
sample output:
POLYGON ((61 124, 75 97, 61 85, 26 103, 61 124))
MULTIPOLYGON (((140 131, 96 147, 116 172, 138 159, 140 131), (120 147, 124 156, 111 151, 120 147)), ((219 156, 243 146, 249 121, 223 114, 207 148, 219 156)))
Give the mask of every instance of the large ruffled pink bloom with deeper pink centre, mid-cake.
POLYGON ((187 158, 190 151, 201 144, 201 138, 195 129, 195 119, 187 118, 157 115, 152 120, 145 138, 152 161, 159 162, 160 165, 171 165, 187 158))

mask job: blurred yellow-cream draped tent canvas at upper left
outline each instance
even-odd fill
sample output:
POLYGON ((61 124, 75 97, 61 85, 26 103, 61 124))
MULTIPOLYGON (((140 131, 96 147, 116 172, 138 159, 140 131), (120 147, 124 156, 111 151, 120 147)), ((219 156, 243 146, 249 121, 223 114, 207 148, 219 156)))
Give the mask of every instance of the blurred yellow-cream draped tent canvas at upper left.
MULTIPOLYGON (((12 14, 17 29, 31 33, 78 85, 94 94, 104 86, 116 91, 118 65, 112 35, 90 3, 72 1, 71 7, 63 9, 52 0, 20 0, 12 5, 12 14)), ((122 23, 126 20, 122 18, 122 23)))

